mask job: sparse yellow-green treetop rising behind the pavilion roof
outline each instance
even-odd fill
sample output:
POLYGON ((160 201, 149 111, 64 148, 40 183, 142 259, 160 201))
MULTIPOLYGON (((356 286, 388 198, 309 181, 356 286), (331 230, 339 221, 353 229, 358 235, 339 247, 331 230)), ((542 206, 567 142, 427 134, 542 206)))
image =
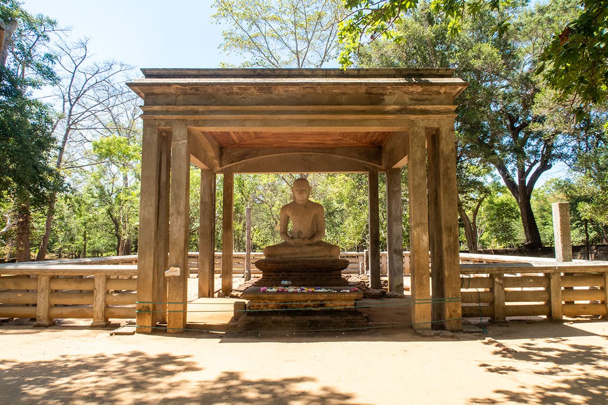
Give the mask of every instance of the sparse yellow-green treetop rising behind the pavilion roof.
POLYGON ((224 50, 241 67, 322 67, 338 54, 340 0, 216 0, 212 17, 226 24, 224 50))

